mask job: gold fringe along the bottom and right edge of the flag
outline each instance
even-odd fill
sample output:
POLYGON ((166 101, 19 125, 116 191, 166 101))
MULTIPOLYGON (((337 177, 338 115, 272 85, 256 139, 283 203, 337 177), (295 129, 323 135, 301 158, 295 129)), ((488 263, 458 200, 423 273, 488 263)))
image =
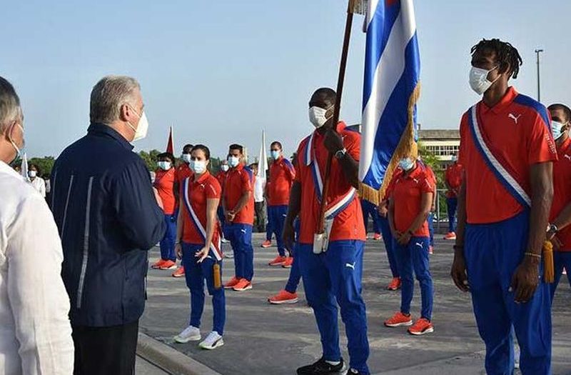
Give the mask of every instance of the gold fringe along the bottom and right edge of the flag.
POLYGON ((418 156, 418 144, 415 142, 415 124, 414 124, 414 112, 415 104, 420 97, 420 82, 416 85, 413 94, 410 94, 408 99, 408 123, 403 132, 403 136, 400 137, 398 146, 395 149, 393 157, 390 159, 387 171, 385 171, 385 178, 383 179, 383 185, 380 189, 373 189, 373 187, 368 186, 362 181, 359 182, 359 196, 361 199, 370 201, 372 204, 377 206, 382 197, 385 195, 385 191, 388 187, 390 179, 393 178, 395 169, 397 169, 398 161, 404 157, 411 156, 414 159, 418 156))

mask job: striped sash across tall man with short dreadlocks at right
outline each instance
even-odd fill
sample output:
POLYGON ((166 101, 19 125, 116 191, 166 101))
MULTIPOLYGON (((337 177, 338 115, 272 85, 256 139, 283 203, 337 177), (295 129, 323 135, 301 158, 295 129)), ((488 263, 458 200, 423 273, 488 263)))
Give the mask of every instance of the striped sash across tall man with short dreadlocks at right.
POLYGON ((485 138, 482 135, 482 125, 477 121, 477 111, 476 105, 470 108, 468 111, 468 124, 470 125, 470 131, 472 134, 472 139, 480 155, 484 159, 486 165, 493 174, 496 176, 497 180, 505 187, 508 193, 510 193, 516 201, 518 201, 526 209, 531 207, 530 194, 522 188, 522 186, 517 182, 515 176, 512 176, 505 166, 503 166, 498 158, 492 154, 490 147, 487 146, 485 138))

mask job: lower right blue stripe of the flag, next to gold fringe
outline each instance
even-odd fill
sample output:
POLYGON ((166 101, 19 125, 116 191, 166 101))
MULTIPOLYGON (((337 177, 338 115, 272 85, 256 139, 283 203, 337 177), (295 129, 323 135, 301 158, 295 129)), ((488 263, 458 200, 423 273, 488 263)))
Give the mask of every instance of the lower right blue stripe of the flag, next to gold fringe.
MULTIPOLYGON (((383 115, 380 117, 377 134, 375 135, 373 161, 363 179, 363 183, 371 186, 373 189, 380 189, 390 159, 392 159, 397 149, 403 136, 403 131, 408 126, 408 101, 418 85, 419 76, 420 55, 418 54, 418 38, 415 33, 405 49, 405 70, 403 75, 400 76, 398 84, 390 95, 385 111, 383 111, 383 115)), ((417 129, 415 129, 415 138, 418 138, 417 129)))

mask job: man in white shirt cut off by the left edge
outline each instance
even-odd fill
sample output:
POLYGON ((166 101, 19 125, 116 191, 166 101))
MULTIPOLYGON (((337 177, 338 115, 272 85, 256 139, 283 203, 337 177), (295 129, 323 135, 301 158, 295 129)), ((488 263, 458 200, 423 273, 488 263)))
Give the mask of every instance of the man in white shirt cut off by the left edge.
POLYGON ((14 87, 0 77, 0 374, 71 375, 63 254, 46 201, 8 165, 24 145, 14 87))

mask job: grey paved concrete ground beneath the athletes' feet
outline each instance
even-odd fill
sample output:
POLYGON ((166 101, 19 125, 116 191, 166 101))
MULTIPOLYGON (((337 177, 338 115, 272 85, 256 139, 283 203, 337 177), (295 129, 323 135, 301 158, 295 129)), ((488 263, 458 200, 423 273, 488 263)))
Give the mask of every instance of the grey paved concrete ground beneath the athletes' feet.
MULTIPOLYGON (((148 303, 141 331, 173 346, 183 354, 220 374, 295 374, 321 354, 313 312, 303 299, 295 305, 272 306, 266 299, 283 288, 288 270, 267 266, 276 248, 261 249, 262 236, 255 235, 256 275, 251 291, 226 293, 226 345, 216 351, 201 351, 196 344, 173 344, 172 337, 188 324, 188 290, 183 279, 173 279, 169 271, 149 271, 148 303)), ((226 246, 226 251, 230 251, 226 246)), ((151 253, 151 261, 158 251, 151 253)), ((484 374, 483 346, 477 335, 470 296, 455 289, 449 271, 452 244, 439 240, 431 258, 435 283, 433 322, 435 333, 422 337, 406 334, 406 329, 388 329, 383 320, 400 304, 400 292, 385 291, 390 279, 382 241, 368 241, 365 250, 363 294, 367 303, 370 360, 373 374, 444 375, 484 374)), ((224 280, 233 272, 233 260, 224 264, 224 280)), ((303 283, 302 283, 303 284, 303 283)), ((415 285, 413 314, 420 313, 420 289, 415 285)), ((571 374, 571 289, 563 282, 553 311, 553 372, 571 374)), ((212 322, 211 301, 207 298, 202 331, 212 322)), ((340 322, 340 327, 343 324, 340 322)), ((342 328, 343 329, 343 328, 342 328)), ((344 336, 343 334, 341 335, 344 336)), ((343 356, 348 358, 343 338, 343 356)), ((158 373, 160 374, 160 373, 158 373)))

